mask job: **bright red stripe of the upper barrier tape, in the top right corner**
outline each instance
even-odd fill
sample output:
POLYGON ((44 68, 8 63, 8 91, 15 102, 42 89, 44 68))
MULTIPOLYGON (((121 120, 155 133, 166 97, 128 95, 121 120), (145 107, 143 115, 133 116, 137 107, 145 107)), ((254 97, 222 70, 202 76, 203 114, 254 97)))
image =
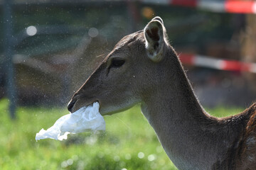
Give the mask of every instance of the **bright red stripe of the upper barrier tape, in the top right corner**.
POLYGON ((253 13, 254 1, 225 1, 225 10, 230 13, 253 13))

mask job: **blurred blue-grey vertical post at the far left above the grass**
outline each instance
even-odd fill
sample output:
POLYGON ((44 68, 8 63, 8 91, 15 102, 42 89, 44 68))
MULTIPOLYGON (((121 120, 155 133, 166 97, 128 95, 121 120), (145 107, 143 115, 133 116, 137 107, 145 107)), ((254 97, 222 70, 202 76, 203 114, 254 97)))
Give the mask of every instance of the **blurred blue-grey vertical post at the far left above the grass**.
POLYGON ((12 119, 16 118, 16 86, 14 80, 14 36, 12 33, 12 0, 4 0, 4 67, 6 70, 6 91, 9 98, 9 111, 12 119))

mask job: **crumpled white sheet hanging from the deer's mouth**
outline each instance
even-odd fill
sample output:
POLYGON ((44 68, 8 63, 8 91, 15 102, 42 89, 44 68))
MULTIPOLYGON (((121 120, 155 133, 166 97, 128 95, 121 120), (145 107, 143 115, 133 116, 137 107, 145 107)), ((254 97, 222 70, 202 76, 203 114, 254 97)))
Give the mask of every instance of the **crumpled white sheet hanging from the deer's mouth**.
POLYGON ((41 129, 36 133, 36 141, 46 138, 66 140, 70 133, 105 130, 105 120, 100 115, 99 108, 99 103, 95 102, 92 106, 82 107, 72 114, 63 115, 48 130, 41 129))

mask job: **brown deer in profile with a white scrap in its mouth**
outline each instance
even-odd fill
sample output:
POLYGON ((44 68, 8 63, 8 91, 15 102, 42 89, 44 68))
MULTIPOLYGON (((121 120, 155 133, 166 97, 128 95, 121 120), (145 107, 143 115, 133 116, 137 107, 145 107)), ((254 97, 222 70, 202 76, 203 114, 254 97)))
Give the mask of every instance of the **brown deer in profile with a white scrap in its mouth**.
POLYGON ((95 101, 101 115, 140 104, 178 169, 256 169, 256 103, 225 118, 208 114, 193 92, 164 21, 156 16, 124 36, 68 103, 78 111, 95 101))

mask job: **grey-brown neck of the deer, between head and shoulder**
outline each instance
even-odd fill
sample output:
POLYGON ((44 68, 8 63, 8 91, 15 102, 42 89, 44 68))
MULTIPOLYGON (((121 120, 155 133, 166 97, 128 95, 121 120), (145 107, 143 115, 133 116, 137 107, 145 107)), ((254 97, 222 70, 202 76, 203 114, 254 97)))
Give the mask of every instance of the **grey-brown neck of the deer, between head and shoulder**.
POLYGON ((142 113, 178 169, 211 169, 223 159, 237 135, 225 129, 228 127, 223 131, 218 128, 218 119, 198 103, 178 58, 171 63, 172 69, 165 71, 165 83, 144 98, 142 113))

